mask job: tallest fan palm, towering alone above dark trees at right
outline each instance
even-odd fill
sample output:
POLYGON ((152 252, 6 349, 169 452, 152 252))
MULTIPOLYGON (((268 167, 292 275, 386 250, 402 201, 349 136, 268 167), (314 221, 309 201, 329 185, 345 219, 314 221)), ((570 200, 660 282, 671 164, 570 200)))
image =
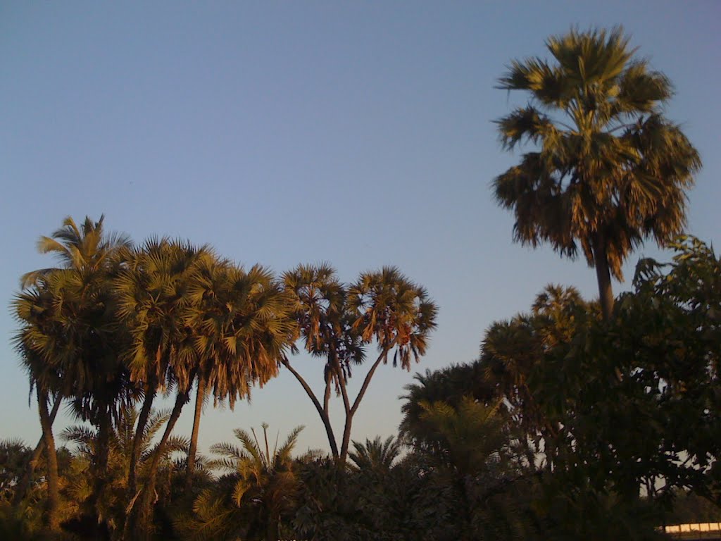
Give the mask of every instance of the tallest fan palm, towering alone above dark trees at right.
POLYGON ((536 149, 494 180, 495 198, 516 216, 514 237, 578 247, 596 268, 603 315, 614 304, 611 276, 644 239, 660 245, 686 221, 686 188, 701 167, 681 128, 663 116, 671 82, 634 58, 621 28, 572 30, 547 40, 554 58, 513 61, 499 80, 530 102, 497 120, 505 149, 536 149))

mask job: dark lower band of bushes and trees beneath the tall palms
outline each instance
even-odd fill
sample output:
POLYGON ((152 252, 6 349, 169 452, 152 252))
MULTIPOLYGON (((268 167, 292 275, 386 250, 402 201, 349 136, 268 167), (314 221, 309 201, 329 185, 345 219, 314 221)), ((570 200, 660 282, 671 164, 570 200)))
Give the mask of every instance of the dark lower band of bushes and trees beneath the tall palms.
POLYGON ((93 418, 61 432, 76 450, 56 452, 51 509, 47 449, 19 495, 32 449, 5 441, 5 537, 45 535, 50 511, 68 539, 655 539, 662 524, 716 520, 721 259, 696 239, 674 246, 669 264, 640 261, 611 320, 549 287, 487 330, 477 361, 417 374, 399 435, 353 442, 348 459, 296 456, 301 427, 278 444, 263 426, 190 470, 190 438, 155 437, 171 411, 138 422, 140 392, 116 405, 106 441, 93 418), (149 486, 144 529, 128 532, 149 486))

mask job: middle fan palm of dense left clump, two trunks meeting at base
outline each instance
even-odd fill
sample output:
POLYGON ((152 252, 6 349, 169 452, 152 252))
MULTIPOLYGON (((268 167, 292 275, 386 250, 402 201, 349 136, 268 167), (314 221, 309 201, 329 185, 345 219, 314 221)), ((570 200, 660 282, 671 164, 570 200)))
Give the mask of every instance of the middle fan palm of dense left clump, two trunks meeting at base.
POLYGON ((190 307, 190 287, 195 269, 205 260, 216 260, 211 248, 195 247, 170 239, 149 239, 136 250, 114 281, 118 316, 128 327, 131 348, 130 377, 143 389, 143 406, 133 438, 128 472, 128 514, 124 537, 151 535, 151 519, 158 468, 175 423, 190 399, 198 374, 193 329, 185 322, 190 307), (137 493, 137 466, 143 431, 157 392, 175 388, 175 401, 159 452, 148 466, 146 482, 137 493))

